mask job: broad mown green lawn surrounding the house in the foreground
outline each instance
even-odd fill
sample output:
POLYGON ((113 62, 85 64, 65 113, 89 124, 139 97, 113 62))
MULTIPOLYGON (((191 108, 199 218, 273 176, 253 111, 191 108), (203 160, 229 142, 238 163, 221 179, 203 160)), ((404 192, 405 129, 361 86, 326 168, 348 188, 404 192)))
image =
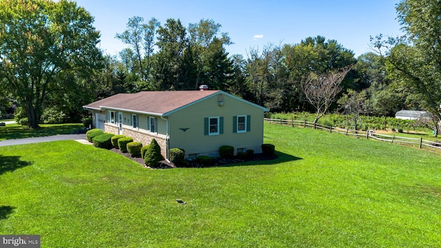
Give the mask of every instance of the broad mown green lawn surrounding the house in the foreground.
POLYGON ((265 143, 277 160, 156 170, 75 141, 0 147, 0 234, 41 247, 441 246, 440 154, 271 124, 265 143))

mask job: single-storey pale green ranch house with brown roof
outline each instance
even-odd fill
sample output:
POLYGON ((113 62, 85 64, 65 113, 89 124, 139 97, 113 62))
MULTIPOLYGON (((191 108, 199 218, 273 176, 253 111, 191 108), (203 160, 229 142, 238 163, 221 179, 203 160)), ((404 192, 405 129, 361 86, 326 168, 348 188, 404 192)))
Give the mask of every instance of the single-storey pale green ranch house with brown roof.
POLYGON ((185 158, 219 156, 219 147, 237 152, 263 143, 263 114, 268 110, 220 90, 116 94, 83 106, 93 125, 104 132, 130 136, 143 145, 155 138, 161 154, 181 148, 185 158))

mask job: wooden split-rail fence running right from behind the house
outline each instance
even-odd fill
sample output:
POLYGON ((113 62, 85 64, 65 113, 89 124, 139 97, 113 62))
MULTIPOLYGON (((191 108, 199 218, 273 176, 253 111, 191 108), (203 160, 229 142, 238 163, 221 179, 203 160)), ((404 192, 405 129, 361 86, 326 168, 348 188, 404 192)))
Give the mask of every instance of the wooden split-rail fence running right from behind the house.
POLYGON ((291 125, 291 127, 299 126, 299 127, 311 127, 314 129, 327 130, 329 132, 336 132, 338 134, 345 134, 346 136, 363 136, 367 139, 373 138, 376 141, 384 141, 390 143, 402 143, 413 145, 419 147, 420 149, 429 149, 434 148, 438 151, 441 151, 441 143, 433 142, 433 141, 425 141, 422 138, 409 138, 402 137, 396 135, 386 135, 386 134, 376 134, 374 130, 360 131, 360 130, 349 130, 340 127, 330 127, 327 125, 322 125, 319 123, 314 123, 312 121, 298 121, 298 120, 283 120, 283 119, 274 119, 274 118, 263 118, 267 123, 274 123, 280 125, 291 125))

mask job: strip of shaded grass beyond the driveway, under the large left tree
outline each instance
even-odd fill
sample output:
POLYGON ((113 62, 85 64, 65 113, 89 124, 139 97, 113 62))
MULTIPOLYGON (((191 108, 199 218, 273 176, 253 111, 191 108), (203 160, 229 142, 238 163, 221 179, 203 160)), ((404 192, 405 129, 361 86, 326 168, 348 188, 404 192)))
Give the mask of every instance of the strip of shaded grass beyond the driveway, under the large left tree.
POLYGON ((18 124, 6 124, 6 127, 0 127, 0 141, 13 138, 30 138, 57 134, 70 134, 72 131, 78 130, 82 127, 84 127, 83 123, 40 124, 40 128, 37 129, 30 129, 27 126, 18 124))

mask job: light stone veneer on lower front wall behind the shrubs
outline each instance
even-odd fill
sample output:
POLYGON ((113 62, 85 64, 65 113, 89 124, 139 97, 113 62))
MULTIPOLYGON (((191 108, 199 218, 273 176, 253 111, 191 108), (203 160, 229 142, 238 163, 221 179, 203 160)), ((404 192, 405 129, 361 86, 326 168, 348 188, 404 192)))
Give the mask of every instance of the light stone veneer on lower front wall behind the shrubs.
MULTIPOLYGON (((118 134, 119 130, 118 127, 115 127, 114 125, 105 125, 105 132, 111 133, 111 134, 118 134)), ((134 130, 132 127, 127 128, 123 127, 123 135, 133 138, 133 141, 138 141, 143 143, 143 145, 150 145, 150 142, 152 142, 152 139, 154 138, 156 142, 158 143, 159 147, 161 147, 161 155, 166 157, 165 151, 166 151, 166 143, 164 136, 157 135, 157 134, 148 134, 146 132, 142 132, 141 130, 134 130)))

